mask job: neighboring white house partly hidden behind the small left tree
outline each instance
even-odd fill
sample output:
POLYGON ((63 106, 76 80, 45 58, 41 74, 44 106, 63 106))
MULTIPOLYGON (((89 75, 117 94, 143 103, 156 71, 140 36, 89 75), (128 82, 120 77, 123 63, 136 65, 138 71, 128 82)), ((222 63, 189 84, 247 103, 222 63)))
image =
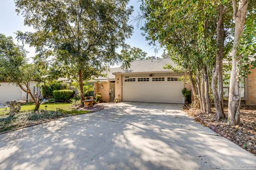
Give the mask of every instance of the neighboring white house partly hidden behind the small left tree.
MULTIPOLYGON (((33 94, 40 93, 40 88, 36 86, 35 81, 30 82, 30 89, 33 94)), ((22 91, 20 87, 9 82, 0 82, 0 103, 5 103, 11 100, 26 100, 27 93, 22 91)), ((30 95, 28 95, 28 100, 30 101, 30 95)))

